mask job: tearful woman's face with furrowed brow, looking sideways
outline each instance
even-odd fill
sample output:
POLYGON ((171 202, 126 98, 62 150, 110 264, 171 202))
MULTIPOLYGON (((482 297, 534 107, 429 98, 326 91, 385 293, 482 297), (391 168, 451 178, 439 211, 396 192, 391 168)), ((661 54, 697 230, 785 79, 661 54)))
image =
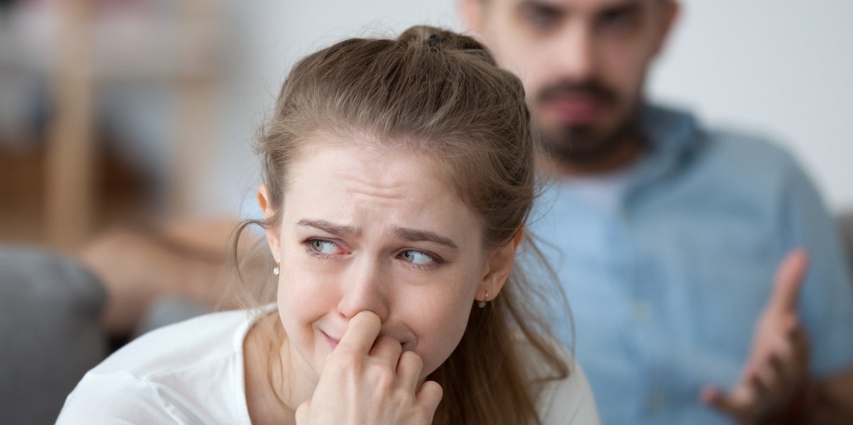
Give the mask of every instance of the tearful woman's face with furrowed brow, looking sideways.
POLYGON ((500 290, 512 257, 482 248, 478 215, 426 159, 332 136, 310 143, 267 232, 291 351, 319 376, 349 319, 368 310, 380 336, 421 356, 422 380, 459 343, 473 300, 500 290))

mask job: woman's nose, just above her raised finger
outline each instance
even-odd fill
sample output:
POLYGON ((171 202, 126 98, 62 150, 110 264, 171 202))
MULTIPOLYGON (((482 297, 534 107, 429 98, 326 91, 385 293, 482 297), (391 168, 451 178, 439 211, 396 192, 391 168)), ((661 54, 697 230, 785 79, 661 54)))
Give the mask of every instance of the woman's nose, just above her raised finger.
POLYGON ((388 273, 381 268, 380 261, 367 258, 351 264, 341 282, 338 313, 346 319, 352 319, 357 313, 367 310, 379 316, 382 322, 386 321, 388 273))

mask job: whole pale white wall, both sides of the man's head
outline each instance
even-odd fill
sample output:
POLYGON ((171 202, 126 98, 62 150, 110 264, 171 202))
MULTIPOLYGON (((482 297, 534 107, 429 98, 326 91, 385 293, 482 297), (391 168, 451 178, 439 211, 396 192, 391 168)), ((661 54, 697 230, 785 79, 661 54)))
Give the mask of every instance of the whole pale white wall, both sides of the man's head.
MULTIPOLYGON (((247 141, 299 57, 352 35, 392 34, 416 23, 459 27, 454 0, 228 3, 243 22, 246 46, 235 60, 249 66, 223 94, 229 146, 221 157, 228 168, 247 171, 219 175, 217 192, 200 193, 208 203, 235 204, 233 193, 256 183, 247 141)), ((706 123, 774 137, 800 159, 833 210, 853 209, 853 2, 682 5, 650 82, 653 98, 687 106, 706 123)))

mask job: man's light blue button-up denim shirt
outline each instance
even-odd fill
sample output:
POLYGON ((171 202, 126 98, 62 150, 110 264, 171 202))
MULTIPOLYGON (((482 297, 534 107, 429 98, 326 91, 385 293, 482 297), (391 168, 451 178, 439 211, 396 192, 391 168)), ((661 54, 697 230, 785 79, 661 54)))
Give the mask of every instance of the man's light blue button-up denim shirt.
POLYGON ((853 365, 853 285, 833 219, 778 147, 647 106, 650 148, 616 202, 553 181, 530 230, 572 307, 554 321, 604 424, 731 423, 699 401, 740 376, 775 268, 804 247, 799 311, 815 376, 853 365))

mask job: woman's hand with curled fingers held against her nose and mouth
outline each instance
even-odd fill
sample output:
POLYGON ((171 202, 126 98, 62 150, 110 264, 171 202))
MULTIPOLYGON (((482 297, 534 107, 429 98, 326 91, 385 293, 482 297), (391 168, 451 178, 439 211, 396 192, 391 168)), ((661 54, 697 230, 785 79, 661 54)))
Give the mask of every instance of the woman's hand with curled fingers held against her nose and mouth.
POLYGON ((423 364, 397 340, 379 336, 379 316, 361 312, 328 356, 314 395, 299 405, 308 424, 429 424, 441 401, 437 382, 418 389, 423 364))

